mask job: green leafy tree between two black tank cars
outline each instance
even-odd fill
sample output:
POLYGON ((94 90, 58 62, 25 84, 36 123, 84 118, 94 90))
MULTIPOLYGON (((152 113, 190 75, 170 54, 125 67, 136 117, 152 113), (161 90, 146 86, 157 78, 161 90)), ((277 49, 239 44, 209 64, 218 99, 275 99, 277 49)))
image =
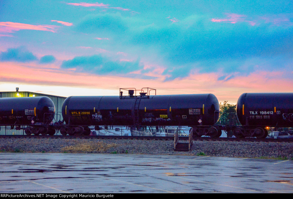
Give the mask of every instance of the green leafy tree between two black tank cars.
POLYGON ((228 101, 220 103, 220 116, 217 121, 218 125, 236 125, 236 104, 229 104, 228 101))

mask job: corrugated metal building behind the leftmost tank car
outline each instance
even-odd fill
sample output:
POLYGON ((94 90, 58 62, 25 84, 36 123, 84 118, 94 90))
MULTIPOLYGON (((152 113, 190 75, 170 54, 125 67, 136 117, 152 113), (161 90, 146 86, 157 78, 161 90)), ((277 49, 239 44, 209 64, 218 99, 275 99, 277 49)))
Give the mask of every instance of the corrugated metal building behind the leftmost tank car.
MULTIPOLYGON (((35 97, 41 97, 41 96, 46 96, 49 97, 55 105, 55 117, 54 117, 54 122, 59 121, 59 120, 63 120, 62 117, 62 104, 64 102, 64 100, 66 99, 66 97, 60 97, 60 96, 55 96, 55 95, 45 95, 45 94, 41 94, 41 93, 35 93, 35 92, 0 92, 0 97, 33 97, 33 95, 35 95, 35 97), (17 95, 17 93, 19 93, 19 96, 17 95)), ((5 127, 1 127, 0 129, 0 135, 23 135, 24 131, 23 130, 15 130, 15 129, 10 129, 10 128, 5 128, 5 127)))

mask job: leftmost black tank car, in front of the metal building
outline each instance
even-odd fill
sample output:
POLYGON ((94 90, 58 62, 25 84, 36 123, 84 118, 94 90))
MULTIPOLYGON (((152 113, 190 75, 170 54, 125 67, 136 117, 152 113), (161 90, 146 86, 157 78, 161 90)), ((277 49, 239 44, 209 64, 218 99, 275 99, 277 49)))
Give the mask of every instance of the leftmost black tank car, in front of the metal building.
POLYGON ((4 97, 0 98, 0 125, 28 125, 27 135, 54 135, 55 106, 49 97, 4 97))

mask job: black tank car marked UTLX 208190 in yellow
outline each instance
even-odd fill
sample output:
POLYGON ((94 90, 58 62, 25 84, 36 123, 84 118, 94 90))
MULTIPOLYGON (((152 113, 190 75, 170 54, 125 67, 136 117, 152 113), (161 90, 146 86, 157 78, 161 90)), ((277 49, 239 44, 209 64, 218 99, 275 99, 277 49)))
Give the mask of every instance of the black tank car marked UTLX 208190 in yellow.
POLYGON ((88 126, 191 126, 197 136, 219 135, 212 127, 219 118, 213 94, 130 96, 71 96, 62 106, 67 125, 62 135, 88 135, 88 126))

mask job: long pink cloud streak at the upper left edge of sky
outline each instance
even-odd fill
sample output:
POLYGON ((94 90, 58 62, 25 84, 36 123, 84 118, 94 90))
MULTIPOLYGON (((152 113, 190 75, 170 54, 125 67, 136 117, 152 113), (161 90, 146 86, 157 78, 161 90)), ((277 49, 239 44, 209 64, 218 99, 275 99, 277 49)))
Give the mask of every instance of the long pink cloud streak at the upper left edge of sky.
POLYGON ((55 32, 55 27, 50 25, 31 25, 15 22, 0 22, 0 32, 15 32, 19 30, 42 30, 55 32))

